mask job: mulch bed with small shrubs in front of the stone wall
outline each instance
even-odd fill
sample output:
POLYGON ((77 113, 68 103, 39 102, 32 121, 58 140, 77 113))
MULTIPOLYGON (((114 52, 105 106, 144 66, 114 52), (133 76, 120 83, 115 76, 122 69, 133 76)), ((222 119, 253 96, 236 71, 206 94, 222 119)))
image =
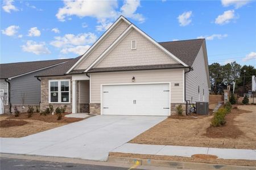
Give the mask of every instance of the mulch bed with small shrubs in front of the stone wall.
POLYGON ((30 118, 27 117, 28 113, 20 113, 19 117, 15 117, 13 114, 9 114, 9 117, 6 119, 15 119, 15 120, 39 120, 44 121, 48 123, 72 123, 84 120, 84 118, 75 118, 75 117, 64 117, 66 114, 69 113, 63 113, 61 120, 57 120, 57 115, 47 114, 44 116, 43 114, 40 115, 40 113, 33 113, 30 118))

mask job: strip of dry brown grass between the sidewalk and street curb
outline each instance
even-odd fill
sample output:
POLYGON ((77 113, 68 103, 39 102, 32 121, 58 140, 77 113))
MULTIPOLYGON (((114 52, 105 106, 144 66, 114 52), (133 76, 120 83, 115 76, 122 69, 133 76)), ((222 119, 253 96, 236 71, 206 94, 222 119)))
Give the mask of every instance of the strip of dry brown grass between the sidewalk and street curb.
POLYGON ((213 156, 164 156, 164 155, 142 155, 142 154, 126 154, 120 152, 109 152, 109 157, 119 158, 133 158, 133 159, 146 159, 146 160, 171 160, 179 162, 199 162, 211 164, 226 164, 226 165, 241 165, 241 166, 256 166, 255 160, 242 160, 242 159, 213 159, 213 156))

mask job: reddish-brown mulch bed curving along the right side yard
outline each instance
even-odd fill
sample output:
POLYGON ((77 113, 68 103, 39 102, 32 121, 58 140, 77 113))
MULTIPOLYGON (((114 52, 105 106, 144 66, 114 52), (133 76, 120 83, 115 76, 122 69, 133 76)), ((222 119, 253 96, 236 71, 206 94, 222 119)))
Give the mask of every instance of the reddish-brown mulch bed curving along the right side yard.
POLYGON ((241 113, 250 113, 250 111, 245 111, 242 109, 232 109, 231 113, 226 114, 226 124, 221 127, 209 126, 205 136, 209 138, 238 138, 243 135, 241 131, 234 123, 236 118, 241 113))

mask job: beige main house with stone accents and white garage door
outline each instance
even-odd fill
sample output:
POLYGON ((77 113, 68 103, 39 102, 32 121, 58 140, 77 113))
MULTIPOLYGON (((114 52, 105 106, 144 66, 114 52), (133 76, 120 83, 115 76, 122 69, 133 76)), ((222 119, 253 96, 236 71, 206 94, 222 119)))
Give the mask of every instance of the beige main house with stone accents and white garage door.
POLYGON ((85 54, 36 76, 43 110, 166 116, 209 101, 205 39, 156 42, 123 16, 85 54))

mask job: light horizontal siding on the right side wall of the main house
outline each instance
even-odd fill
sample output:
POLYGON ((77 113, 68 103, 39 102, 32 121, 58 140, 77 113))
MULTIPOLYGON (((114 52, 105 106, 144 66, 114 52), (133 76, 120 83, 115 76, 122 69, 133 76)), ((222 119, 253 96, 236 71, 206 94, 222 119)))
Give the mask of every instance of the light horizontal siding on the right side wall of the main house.
POLYGON ((205 102, 208 102, 209 90, 203 46, 201 46, 192 67, 193 71, 186 75, 186 98, 187 100, 191 100, 191 97, 193 96, 193 102, 199 101, 198 86, 200 86, 200 101, 203 101, 204 89, 205 102))

